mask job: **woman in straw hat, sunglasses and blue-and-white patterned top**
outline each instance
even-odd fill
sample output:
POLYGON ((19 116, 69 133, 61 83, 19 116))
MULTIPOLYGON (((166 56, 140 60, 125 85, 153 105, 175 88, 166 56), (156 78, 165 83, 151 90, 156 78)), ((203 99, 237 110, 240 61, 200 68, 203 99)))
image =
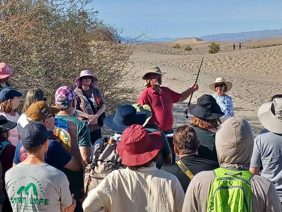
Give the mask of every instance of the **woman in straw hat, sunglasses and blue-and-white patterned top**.
POLYGON ((215 98, 216 103, 220 106, 221 111, 224 113, 224 116, 220 118, 223 123, 226 119, 234 116, 232 98, 226 95, 226 93, 232 88, 232 82, 226 81, 222 77, 218 77, 214 83, 209 84, 209 87, 211 90, 215 91, 215 93, 211 96, 215 98))

